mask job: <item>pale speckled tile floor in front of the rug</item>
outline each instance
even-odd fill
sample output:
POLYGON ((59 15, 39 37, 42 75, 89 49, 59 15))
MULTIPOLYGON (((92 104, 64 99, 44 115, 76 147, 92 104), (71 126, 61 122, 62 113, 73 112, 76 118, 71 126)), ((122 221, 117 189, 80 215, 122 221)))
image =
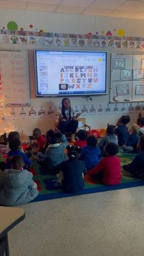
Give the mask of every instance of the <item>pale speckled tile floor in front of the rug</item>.
POLYGON ((10 256, 144 255, 144 187, 28 203, 10 256))

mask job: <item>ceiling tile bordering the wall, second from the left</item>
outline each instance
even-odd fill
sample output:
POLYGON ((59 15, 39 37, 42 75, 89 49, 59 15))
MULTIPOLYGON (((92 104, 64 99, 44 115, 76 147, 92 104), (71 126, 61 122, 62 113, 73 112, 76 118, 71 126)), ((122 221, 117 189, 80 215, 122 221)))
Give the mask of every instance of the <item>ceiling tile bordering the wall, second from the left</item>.
POLYGON ((38 10, 41 12, 54 12, 57 5, 52 4, 27 4, 27 10, 38 10))

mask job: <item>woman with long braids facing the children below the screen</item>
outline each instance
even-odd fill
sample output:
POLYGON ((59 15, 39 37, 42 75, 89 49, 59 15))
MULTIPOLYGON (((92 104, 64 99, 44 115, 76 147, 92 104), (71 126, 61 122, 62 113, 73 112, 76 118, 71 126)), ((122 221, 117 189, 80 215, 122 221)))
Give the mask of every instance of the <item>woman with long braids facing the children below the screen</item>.
POLYGON ((62 108, 59 112, 59 123, 57 129, 65 134, 71 133, 71 142, 75 142, 74 137, 78 126, 78 117, 81 113, 74 115, 71 103, 68 98, 63 98, 62 108))

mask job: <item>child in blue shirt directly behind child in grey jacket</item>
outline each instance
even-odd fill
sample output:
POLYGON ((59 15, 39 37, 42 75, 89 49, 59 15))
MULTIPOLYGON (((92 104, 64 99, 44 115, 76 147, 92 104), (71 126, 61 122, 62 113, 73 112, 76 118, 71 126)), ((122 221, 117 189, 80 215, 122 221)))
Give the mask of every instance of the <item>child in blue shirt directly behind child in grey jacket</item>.
POLYGON ((26 154, 20 151, 20 139, 15 138, 9 142, 10 151, 7 153, 7 165, 6 169, 10 169, 12 156, 22 156, 24 161, 24 167, 29 168, 32 165, 32 161, 27 158, 26 154))

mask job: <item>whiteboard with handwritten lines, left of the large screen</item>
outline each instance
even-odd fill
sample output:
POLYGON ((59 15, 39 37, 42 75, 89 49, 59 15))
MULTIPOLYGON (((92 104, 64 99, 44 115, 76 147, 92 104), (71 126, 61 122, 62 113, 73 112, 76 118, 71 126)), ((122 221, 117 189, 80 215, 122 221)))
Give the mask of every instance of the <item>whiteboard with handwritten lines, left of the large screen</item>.
POLYGON ((27 51, 0 51, 0 93, 6 106, 29 106, 27 51))

